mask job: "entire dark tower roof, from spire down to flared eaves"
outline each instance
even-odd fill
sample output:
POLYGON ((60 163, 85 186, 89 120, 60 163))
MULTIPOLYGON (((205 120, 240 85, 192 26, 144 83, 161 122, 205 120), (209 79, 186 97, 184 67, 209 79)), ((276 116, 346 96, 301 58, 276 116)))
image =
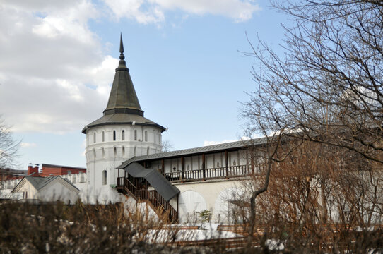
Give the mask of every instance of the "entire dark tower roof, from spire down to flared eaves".
POLYGON ((115 124, 136 124, 141 126, 154 126, 165 131, 163 126, 143 117, 139 98, 134 90, 133 82, 129 74, 129 68, 126 67, 124 56, 124 44, 122 36, 119 41, 119 66, 116 68, 112 90, 110 91, 107 108, 104 110, 104 116, 83 128, 82 133, 86 133, 88 128, 95 126, 115 125, 115 124))

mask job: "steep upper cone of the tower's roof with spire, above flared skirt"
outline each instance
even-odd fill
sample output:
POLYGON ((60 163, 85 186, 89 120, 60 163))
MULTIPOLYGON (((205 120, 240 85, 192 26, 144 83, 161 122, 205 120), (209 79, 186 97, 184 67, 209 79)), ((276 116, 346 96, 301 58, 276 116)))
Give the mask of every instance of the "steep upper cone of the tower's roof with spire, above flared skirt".
POLYGON ((108 114, 113 109, 130 109, 129 111, 134 114, 142 114, 139 98, 134 90, 133 83, 129 74, 129 68, 126 68, 125 56, 124 56, 124 44, 122 43, 122 36, 119 41, 119 66, 116 68, 114 74, 114 80, 112 90, 110 91, 109 101, 107 102, 107 108, 104 114, 108 114), (141 112, 139 112, 141 111, 141 112))

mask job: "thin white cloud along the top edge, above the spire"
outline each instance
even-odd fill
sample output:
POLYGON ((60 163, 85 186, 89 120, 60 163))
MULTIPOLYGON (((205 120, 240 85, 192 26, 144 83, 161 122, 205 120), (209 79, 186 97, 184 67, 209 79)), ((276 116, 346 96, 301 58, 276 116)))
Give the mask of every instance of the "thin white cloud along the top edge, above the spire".
POLYGON ((103 0, 114 18, 130 18, 139 23, 165 21, 165 11, 184 11, 196 15, 213 14, 242 22, 252 18, 260 7, 246 0, 103 0))

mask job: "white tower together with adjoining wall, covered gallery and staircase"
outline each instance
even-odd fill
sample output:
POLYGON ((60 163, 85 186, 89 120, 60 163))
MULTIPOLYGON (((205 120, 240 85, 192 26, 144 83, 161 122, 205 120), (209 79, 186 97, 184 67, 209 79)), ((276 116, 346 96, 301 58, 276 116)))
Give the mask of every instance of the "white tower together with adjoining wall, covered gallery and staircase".
POLYGON ((213 218, 227 221, 230 204, 225 197, 235 190, 238 177, 254 171, 244 143, 160 152, 165 128, 143 117, 122 39, 120 53, 103 116, 82 131, 88 201, 143 200, 152 208, 165 207, 171 219, 186 221, 195 212, 210 210, 213 218))

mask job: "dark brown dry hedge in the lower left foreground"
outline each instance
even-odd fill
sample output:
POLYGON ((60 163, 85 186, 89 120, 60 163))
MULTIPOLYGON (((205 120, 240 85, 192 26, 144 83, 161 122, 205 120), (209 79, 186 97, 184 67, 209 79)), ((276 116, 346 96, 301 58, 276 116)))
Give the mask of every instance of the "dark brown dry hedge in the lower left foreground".
POLYGON ((174 241, 177 228, 165 226, 164 218, 124 210, 122 203, 4 202, 0 204, 0 253, 131 253, 134 249, 197 253, 194 248, 151 244, 174 241))

